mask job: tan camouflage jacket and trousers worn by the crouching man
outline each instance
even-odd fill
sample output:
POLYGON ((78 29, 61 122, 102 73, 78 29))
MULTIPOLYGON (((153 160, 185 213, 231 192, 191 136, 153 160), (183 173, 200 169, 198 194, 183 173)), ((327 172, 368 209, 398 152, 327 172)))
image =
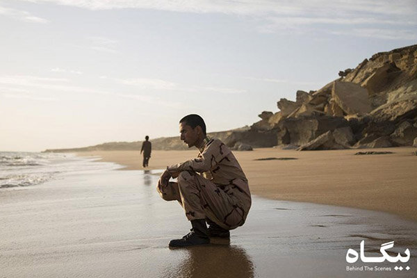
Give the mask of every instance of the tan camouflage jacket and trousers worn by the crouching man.
POLYGON ((229 147, 218 139, 204 139, 198 157, 179 163, 178 182, 158 181, 166 201, 177 200, 188 220, 209 218, 224 229, 245 223, 251 206, 245 174, 229 147), (199 174, 201 173, 201 174, 199 174))

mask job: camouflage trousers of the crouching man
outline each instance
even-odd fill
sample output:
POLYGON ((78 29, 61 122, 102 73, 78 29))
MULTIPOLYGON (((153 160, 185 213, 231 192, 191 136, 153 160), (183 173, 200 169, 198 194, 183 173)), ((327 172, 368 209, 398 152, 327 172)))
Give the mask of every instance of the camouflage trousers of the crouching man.
POLYGON ((183 171, 178 182, 158 184, 156 189, 165 201, 177 200, 188 220, 208 218, 223 229, 235 229, 245 222, 247 211, 233 196, 234 189, 218 186, 195 172, 183 171))

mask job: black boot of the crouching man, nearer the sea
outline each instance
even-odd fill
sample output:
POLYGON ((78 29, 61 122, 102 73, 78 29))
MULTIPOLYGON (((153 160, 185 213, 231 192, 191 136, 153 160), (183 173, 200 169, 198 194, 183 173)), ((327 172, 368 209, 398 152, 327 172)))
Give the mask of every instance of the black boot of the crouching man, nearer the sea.
POLYGON ((207 235, 206 220, 191 220, 191 225, 193 226, 193 229, 191 229, 190 233, 186 234, 181 239, 171 240, 170 247, 186 247, 210 243, 210 238, 208 238, 207 235))

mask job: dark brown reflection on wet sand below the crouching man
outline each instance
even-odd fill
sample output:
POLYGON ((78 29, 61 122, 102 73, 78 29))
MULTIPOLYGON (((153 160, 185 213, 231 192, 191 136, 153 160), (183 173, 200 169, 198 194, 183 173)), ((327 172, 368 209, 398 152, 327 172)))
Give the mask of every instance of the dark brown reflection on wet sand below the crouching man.
POLYGON ((212 244, 171 252, 174 256, 175 252, 186 254, 178 267, 165 277, 254 277, 254 263, 238 246, 212 244))

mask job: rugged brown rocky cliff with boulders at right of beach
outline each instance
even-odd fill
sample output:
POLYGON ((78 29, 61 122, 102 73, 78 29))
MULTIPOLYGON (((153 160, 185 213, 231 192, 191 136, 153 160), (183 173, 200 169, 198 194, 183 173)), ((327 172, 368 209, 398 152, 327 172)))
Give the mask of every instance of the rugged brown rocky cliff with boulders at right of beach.
POLYGON ((275 130, 278 145, 338 149, 414 143, 417 45, 375 54, 339 76, 319 90, 297 91, 296 101, 278 101, 279 120, 268 120, 267 128, 275 130))

